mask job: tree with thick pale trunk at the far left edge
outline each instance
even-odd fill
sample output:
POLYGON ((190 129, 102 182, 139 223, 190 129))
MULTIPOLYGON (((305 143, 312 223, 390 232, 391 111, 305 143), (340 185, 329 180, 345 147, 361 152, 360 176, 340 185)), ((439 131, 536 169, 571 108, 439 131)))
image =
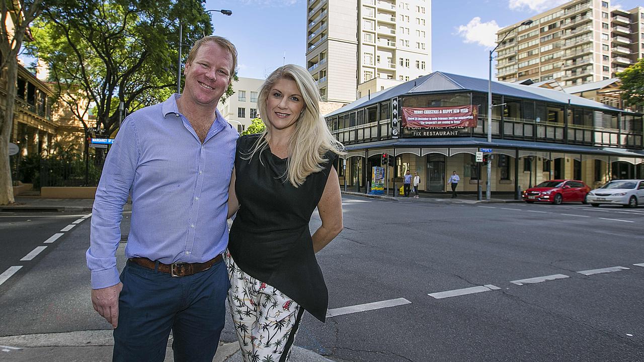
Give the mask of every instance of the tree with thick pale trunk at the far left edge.
POLYGON ((14 125, 15 84, 18 77, 18 53, 33 19, 41 13, 42 0, 0 1, 0 75, 6 90, 0 114, 0 205, 14 202, 9 166, 9 141, 14 125))

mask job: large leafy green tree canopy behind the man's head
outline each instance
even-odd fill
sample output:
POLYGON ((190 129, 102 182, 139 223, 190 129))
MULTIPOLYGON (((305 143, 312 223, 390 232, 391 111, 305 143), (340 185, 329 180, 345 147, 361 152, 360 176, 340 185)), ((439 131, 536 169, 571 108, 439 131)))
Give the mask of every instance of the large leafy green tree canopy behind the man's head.
POLYGON ((212 32, 210 20, 199 0, 59 0, 35 24, 30 51, 50 66, 57 93, 76 117, 83 122, 84 110, 74 97, 87 97, 95 130, 111 135, 120 102, 134 111, 176 89, 179 24, 184 43, 193 43, 212 32))

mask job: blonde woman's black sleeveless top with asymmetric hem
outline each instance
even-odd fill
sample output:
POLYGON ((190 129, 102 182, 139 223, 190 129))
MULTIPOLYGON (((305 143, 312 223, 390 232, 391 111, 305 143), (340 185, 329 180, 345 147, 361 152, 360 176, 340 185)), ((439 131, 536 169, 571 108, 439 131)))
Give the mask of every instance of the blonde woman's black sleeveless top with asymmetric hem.
POLYGON ((287 159, 266 148, 247 158, 259 135, 242 136, 235 155, 235 192, 240 208, 228 249, 235 263, 325 321, 328 291, 317 265, 308 228, 337 155, 329 151, 324 169, 294 187, 285 178, 287 159), (243 157, 243 158, 242 158, 243 157))

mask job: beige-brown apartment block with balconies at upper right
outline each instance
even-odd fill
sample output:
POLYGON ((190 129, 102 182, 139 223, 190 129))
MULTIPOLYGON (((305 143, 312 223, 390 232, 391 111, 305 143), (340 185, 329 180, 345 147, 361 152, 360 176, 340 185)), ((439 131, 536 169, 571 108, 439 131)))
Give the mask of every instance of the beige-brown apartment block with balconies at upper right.
POLYGON ((554 79, 563 87, 614 77, 644 56, 644 9, 574 0, 497 32, 497 79, 554 79), (509 33, 508 33, 509 32, 509 33), (506 36, 507 35, 507 36, 506 36))

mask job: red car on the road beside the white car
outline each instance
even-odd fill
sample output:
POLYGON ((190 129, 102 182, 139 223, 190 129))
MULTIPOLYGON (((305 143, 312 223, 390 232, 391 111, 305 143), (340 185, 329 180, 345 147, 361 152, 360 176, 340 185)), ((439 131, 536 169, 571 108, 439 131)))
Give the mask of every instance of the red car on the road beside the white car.
POLYGON ((562 202, 583 202, 591 191, 583 181, 579 180, 549 180, 523 192, 523 200, 528 204, 535 201, 551 202, 559 205, 562 202))

